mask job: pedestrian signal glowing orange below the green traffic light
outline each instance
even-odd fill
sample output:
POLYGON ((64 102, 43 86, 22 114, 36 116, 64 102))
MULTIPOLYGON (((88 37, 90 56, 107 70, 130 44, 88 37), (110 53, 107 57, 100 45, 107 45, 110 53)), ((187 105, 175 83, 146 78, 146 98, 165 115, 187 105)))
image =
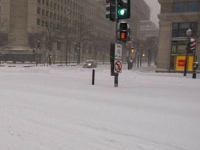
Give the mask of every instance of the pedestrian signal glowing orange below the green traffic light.
POLYGON ((122 42, 127 42, 129 36, 129 25, 126 22, 120 22, 117 26, 117 39, 122 42))

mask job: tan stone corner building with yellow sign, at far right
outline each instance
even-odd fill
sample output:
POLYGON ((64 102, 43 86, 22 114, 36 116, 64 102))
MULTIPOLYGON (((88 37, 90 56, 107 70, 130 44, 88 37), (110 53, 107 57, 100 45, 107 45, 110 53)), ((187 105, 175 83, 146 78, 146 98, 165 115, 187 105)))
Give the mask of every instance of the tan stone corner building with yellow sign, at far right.
MULTIPOLYGON (((200 1, 199 0, 158 0, 161 4, 157 71, 183 71, 187 49, 188 29, 197 41, 196 55, 200 62, 200 1), (180 61, 180 62, 181 62, 180 61), (180 66, 179 66, 180 65, 180 66), (179 68, 180 67, 180 68, 179 68)), ((193 57, 193 54, 189 54, 193 57)), ((192 65, 192 63, 190 63, 192 65)), ((191 66, 190 66, 191 67, 191 66)))

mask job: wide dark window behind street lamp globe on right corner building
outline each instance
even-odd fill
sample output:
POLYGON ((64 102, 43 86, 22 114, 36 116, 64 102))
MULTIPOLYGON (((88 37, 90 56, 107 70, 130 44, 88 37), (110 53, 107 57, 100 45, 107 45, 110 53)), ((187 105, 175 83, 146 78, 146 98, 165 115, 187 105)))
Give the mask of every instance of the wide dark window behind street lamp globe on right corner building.
POLYGON ((172 37, 186 37, 186 31, 192 30, 192 36, 197 36, 198 24, 197 22, 191 23, 173 23, 172 25, 172 37))

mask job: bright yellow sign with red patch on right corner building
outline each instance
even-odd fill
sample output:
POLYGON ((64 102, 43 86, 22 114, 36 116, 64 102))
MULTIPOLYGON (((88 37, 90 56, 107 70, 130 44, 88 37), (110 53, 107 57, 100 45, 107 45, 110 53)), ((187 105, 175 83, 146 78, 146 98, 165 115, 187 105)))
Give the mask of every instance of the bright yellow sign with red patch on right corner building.
MULTIPOLYGON (((176 60, 175 60, 175 70, 176 71, 184 71, 185 68, 185 56, 176 56, 176 60)), ((188 56, 188 66, 187 66, 187 70, 188 71, 192 71, 194 58, 193 56, 188 56)))

